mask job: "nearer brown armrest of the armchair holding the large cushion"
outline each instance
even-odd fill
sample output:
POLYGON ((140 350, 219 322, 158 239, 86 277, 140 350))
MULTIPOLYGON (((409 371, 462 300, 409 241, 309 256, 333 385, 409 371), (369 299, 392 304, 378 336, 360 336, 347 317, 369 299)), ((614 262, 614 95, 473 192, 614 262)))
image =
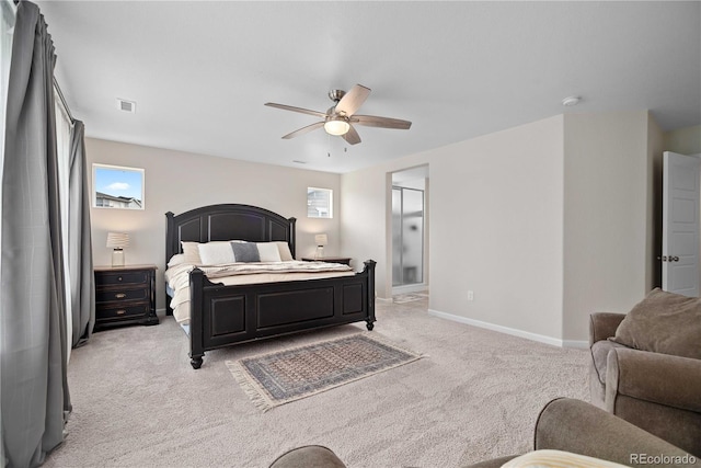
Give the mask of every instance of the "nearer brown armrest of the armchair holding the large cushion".
POLYGON ((606 409, 619 395, 701 413, 701 359, 612 349, 607 357, 606 409))

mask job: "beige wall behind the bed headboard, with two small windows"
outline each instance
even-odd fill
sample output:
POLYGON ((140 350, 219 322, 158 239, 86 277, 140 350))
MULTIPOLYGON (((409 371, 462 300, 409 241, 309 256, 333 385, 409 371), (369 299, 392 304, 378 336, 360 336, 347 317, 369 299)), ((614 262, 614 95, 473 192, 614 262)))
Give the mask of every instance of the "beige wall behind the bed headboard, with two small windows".
MULTIPOLYGON (((243 162, 180 151, 87 138, 88 167, 105 163, 146 170, 143 210, 92 208, 92 244, 95 265, 111 262, 105 247, 107 232, 130 233, 125 250, 127 263, 153 263, 159 267, 157 298, 163 304, 165 265, 165 213, 176 215, 192 208, 218 203, 261 206, 286 217, 297 218, 297 258, 313 255, 314 235, 326 232, 327 255, 340 253, 338 174, 306 171, 278 165, 243 162), (334 218, 307 218, 307 187, 334 191, 334 218)), ((91 182, 92 185, 92 182, 91 182)), ((352 250, 345 250, 353 254, 352 250)))

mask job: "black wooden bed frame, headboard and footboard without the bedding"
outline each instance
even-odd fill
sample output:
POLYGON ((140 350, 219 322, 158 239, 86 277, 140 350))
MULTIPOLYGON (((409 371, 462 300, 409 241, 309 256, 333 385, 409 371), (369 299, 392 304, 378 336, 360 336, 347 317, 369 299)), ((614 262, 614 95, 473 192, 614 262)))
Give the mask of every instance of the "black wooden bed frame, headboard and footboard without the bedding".
MULTIPOLYGON (((295 255, 296 219, 265 208, 221 204, 165 217, 165 262, 182 252, 181 241, 285 241, 295 255)), ((202 366, 206 351, 253 340, 358 321, 372 330, 375 264, 366 261, 353 276, 240 286, 212 283, 195 269, 189 274, 192 366, 202 366)))

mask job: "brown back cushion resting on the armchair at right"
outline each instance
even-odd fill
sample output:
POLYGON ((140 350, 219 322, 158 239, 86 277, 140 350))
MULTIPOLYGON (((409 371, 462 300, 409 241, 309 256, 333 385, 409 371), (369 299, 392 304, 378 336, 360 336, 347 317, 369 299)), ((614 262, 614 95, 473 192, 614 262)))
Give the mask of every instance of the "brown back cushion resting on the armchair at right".
POLYGON ((636 350, 701 359, 701 298, 653 289, 609 338, 636 350))

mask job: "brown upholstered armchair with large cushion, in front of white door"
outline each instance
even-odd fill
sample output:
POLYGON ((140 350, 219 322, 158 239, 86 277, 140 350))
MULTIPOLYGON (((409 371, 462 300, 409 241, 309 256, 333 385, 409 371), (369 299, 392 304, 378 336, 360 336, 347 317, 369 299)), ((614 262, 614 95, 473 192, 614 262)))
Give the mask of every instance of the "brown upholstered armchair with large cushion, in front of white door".
POLYGON ((594 313, 589 345, 591 402, 701 457, 701 299, 655 289, 594 313))

